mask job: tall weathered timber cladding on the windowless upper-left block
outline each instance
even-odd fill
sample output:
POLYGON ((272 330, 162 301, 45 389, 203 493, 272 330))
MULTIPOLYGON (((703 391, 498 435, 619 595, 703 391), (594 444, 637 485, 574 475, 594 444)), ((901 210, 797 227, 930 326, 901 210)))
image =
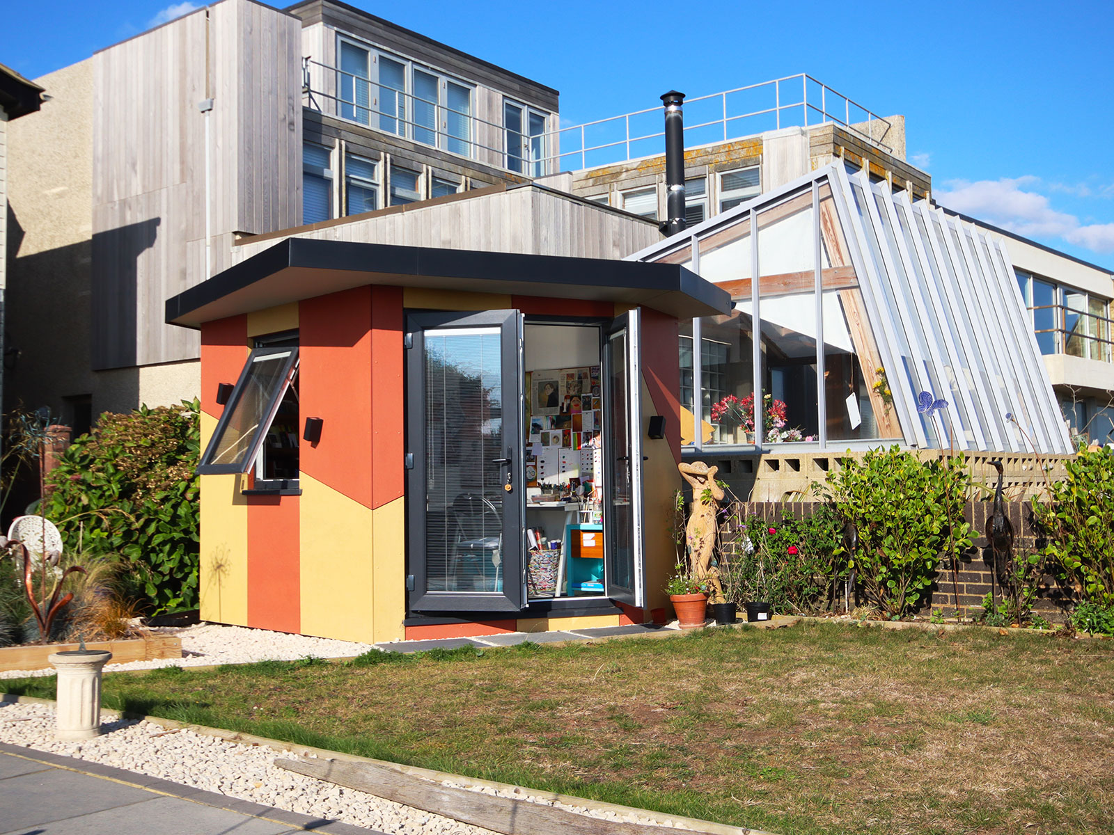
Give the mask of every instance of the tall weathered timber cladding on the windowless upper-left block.
POLYGON ((206 118, 214 252, 301 219, 301 50, 296 18, 223 0, 94 56, 94 369, 198 355, 163 318, 208 277, 206 118))

